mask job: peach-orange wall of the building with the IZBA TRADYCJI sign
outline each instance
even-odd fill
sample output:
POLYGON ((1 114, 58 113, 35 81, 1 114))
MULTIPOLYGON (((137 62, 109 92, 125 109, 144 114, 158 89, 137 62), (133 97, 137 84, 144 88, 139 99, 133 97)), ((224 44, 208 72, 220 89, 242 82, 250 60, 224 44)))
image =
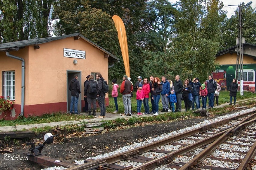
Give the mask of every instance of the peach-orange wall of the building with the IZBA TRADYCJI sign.
MULTIPOLYGON (((12 55, 25 59, 25 105, 57 103, 67 101, 67 70, 81 71, 81 92, 83 95, 84 81, 91 72, 100 72, 108 80, 108 58, 104 53, 83 39, 74 40, 68 37, 49 43, 26 47, 12 55), (86 59, 63 57, 63 48, 86 51, 86 59), (27 57, 29 54, 29 58, 27 57), (77 59, 78 63, 73 64, 77 59)), ((5 57, 7 58, 7 57, 5 57)), ((15 59, 1 60, 1 70, 14 70, 16 81, 16 104, 20 104, 21 95, 21 61, 15 59), (12 60, 10 62, 10 60, 12 60), (8 61, 8 64, 6 64, 8 61), (2 67, 5 65, 5 67, 2 67), (12 68, 12 69, 10 69, 12 68)), ((1 87, 2 88, 2 87, 1 87)), ((108 97, 106 95, 106 97, 108 97)))

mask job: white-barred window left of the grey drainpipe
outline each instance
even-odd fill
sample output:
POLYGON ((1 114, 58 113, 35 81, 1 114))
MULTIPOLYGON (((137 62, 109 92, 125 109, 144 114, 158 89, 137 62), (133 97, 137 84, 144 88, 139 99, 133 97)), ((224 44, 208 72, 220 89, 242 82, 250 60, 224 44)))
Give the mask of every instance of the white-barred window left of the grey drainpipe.
POLYGON ((15 100, 15 71, 3 71, 3 96, 15 100))

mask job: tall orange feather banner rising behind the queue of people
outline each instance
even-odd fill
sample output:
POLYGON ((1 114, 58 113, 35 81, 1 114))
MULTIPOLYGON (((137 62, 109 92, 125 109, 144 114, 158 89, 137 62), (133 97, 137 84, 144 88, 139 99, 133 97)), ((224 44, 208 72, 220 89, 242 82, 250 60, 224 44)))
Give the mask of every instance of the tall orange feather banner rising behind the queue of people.
POLYGON ((122 56, 123 56, 125 73, 128 77, 130 77, 129 53, 128 53, 128 45, 127 45, 127 37, 126 37, 125 27, 124 27, 122 19, 119 16, 114 15, 112 17, 112 19, 114 20, 115 27, 118 32, 118 40, 120 43, 121 52, 122 52, 122 56))

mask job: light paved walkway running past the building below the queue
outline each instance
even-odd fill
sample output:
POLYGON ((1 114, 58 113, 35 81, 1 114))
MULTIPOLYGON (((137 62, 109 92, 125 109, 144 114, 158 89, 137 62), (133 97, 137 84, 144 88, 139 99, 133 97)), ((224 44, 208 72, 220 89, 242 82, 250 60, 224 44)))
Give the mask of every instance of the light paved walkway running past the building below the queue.
MULTIPOLYGON (((256 97, 254 98, 250 98, 250 99, 245 99, 245 100, 239 100, 236 101, 236 103, 240 103, 246 100, 256 100, 256 97)), ((229 105, 229 103, 224 103, 221 104, 219 106, 214 106, 214 108, 221 108, 224 106, 229 105)), ((182 112, 185 111, 185 109, 181 110, 182 112)), ((84 112, 80 112, 81 115, 87 115, 88 113, 84 113, 84 112)), ((159 112, 159 114, 164 114, 165 112, 159 112)), ((96 113, 96 115, 99 115, 99 112, 96 113)), ((133 114, 132 116, 137 116, 137 114, 133 114)), ((149 114, 149 115, 141 115, 141 116, 154 116, 153 114, 149 114)), ((67 125, 67 124, 82 124, 82 123, 95 123, 95 122, 99 122, 99 121, 107 121, 107 120, 115 120, 116 118, 125 118, 128 119, 130 116, 127 117, 123 117, 121 116, 119 113, 106 113, 106 118, 89 118, 89 119, 83 119, 83 120, 79 120, 79 121, 61 121, 61 122, 51 122, 51 123, 43 123, 43 124, 27 124, 27 125, 17 125, 17 126, 3 126, 0 127, 0 131, 1 132, 7 132, 7 131, 14 131, 14 130, 29 130, 33 127, 45 127, 45 126, 50 126, 50 127, 57 127, 57 125, 62 126, 62 125, 67 125)))

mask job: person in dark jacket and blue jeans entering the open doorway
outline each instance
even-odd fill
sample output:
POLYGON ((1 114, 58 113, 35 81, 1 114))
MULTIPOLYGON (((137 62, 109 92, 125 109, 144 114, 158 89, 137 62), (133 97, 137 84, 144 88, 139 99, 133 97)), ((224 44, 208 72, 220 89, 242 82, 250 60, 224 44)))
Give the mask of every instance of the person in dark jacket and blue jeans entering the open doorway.
POLYGON ((77 79, 78 79, 78 75, 75 74, 74 78, 69 83, 69 91, 71 91, 70 113, 71 114, 73 113, 73 105, 75 104, 75 114, 80 115, 80 113, 78 113, 77 106, 78 106, 79 94, 81 93, 81 91, 80 91, 80 83, 77 79))

